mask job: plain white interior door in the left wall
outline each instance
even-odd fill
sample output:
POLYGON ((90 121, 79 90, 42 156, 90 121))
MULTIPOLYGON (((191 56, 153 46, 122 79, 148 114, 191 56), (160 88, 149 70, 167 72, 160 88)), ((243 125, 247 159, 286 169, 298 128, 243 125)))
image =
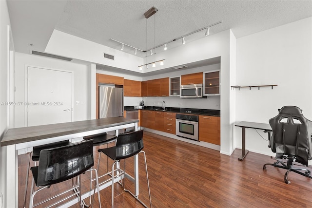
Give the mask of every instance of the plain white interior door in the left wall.
POLYGON ((72 73, 28 67, 27 126, 72 121, 72 73))

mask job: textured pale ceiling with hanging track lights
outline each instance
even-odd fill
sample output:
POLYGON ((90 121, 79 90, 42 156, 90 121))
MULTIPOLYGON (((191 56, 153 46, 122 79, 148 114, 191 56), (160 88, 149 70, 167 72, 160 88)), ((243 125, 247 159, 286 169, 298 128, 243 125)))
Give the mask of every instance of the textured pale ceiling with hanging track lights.
MULTIPOLYGON (((8 0, 8 8, 15 48, 22 53, 34 43, 43 51, 53 29, 118 50, 110 38, 146 50, 220 20, 211 35, 232 29, 240 38, 312 16, 312 0, 8 0), (158 12, 145 19, 152 6, 158 12)), ((186 41, 204 38, 204 32, 186 41)), ((133 49, 125 46, 124 52, 133 49)))

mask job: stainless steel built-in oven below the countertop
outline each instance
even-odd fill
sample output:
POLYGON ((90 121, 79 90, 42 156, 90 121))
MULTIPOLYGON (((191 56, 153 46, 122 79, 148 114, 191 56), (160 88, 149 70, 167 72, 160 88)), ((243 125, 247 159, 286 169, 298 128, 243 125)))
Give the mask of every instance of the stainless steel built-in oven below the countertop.
POLYGON ((198 141, 198 115, 176 113, 176 135, 198 141))

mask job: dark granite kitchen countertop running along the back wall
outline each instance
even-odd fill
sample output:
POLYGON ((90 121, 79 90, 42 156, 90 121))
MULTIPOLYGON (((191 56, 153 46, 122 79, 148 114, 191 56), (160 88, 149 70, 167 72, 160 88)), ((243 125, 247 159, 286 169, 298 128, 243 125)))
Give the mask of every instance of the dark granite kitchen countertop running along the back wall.
MULTIPOLYGON (((137 110, 134 106, 125 106, 125 111, 137 110)), ((150 111, 159 111, 162 110, 162 107, 159 106, 144 106, 142 110, 150 111)), ((211 109, 198 109, 198 108, 175 108, 175 107, 166 107, 164 112, 174 112, 174 113, 188 113, 188 114, 197 114, 197 115, 210 115, 210 116, 220 116, 220 110, 211 110, 211 109)))

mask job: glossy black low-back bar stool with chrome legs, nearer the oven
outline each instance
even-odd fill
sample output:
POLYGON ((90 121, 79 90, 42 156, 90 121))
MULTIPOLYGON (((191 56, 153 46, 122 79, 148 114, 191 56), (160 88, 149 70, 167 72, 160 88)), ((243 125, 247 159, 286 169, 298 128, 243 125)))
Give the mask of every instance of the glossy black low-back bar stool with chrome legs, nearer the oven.
MULTIPOLYGON (((112 175, 112 208, 114 208, 114 180, 123 175, 123 178, 125 177, 125 163, 124 163, 124 170, 120 169, 120 160, 126 159, 129 157, 132 157, 138 153, 144 153, 144 161, 145 161, 145 170, 146 170, 146 177, 147 177, 147 185, 148 185, 148 192, 149 192, 149 198, 150 198, 150 207, 152 208, 152 201, 151 201, 151 192, 150 192, 150 184, 148 180, 148 172, 147 172, 147 164, 146 164, 146 155, 145 152, 142 151, 143 149, 143 130, 137 131, 137 132, 128 132, 119 134, 117 137, 116 146, 105 148, 105 149, 99 149, 98 152, 100 152, 99 157, 101 153, 106 154, 108 157, 110 157, 112 160, 114 160, 113 166, 112 166, 112 172, 110 174, 112 175), (115 170, 115 164, 117 164, 118 168, 115 170), (115 175, 116 171, 116 175, 115 175)), ((98 163, 99 167, 99 163, 98 163)), ((124 188, 124 182, 123 188, 124 188)), ((133 195, 144 207, 147 208, 147 206, 136 196, 133 194, 130 190, 124 189, 125 191, 129 192, 131 195, 133 195)))

